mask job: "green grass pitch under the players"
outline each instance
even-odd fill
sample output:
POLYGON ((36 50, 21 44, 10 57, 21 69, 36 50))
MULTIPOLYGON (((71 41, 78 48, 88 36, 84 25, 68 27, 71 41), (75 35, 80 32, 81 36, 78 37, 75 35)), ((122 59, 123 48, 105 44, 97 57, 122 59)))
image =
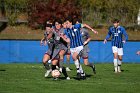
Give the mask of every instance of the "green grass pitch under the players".
MULTIPOLYGON (((67 81, 44 78, 42 64, 0 64, 0 93, 139 93, 140 64, 123 64, 123 72, 113 73, 113 64, 96 64, 97 74, 83 66, 90 76, 75 80, 75 66, 67 81)), ((63 75, 61 76, 63 77, 63 75)))

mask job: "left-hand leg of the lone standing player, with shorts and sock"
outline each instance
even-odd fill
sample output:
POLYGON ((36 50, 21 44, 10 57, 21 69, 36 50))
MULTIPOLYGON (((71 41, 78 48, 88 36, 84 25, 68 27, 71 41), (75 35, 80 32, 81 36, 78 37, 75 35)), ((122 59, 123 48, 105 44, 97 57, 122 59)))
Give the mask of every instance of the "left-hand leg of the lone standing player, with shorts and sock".
POLYGON ((113 50, 113 54, 114 54, 114 70, 115 70, 115 73, 118 72, 118 48, 116 46, 113 46, 112 47, 112 50, 113 50))

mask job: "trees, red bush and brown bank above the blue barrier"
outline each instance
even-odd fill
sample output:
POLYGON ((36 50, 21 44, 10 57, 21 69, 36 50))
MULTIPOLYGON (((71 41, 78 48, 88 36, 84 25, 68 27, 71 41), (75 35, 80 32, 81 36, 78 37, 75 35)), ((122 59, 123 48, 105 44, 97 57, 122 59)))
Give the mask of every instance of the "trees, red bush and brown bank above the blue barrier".
POLYGON ((0 0, 0 20, 8 20, 0 21, 0 39, 40 39, 47 20, 71 16, 100 32, 92 35, 94 40, 104 39, 114 18, 126 27, 130 40, 140 40, 139 5, 140 0, 0 0))

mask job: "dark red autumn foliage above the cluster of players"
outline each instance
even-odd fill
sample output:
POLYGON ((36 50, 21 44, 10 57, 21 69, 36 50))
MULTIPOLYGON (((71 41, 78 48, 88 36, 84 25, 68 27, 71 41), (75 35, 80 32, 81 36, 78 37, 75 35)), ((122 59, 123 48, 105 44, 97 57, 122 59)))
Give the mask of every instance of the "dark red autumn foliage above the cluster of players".
POLYGON ((30 0, 28 3, 29 25, 32 28, 38 28, 48 20, 81 18, 82 9, 76 4, 75 0, 30 0))

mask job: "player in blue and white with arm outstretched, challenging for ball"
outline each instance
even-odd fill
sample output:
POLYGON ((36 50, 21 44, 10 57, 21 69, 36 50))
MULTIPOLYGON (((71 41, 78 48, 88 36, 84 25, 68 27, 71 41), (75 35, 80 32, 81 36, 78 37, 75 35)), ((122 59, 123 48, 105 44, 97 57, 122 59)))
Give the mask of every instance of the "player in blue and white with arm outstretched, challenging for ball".
MULTIPOLYGON (((65 35, 70 39, 70 51, 77 68, 77 79, 86 79, 85 73, 79 62, 79 53, 83 50, 83 40, 80 32, 81 24, 72 25, 72 19, 66 19, 67 30, 65 35)), ((94 31, 92 28, 90 28, 94 31)))

